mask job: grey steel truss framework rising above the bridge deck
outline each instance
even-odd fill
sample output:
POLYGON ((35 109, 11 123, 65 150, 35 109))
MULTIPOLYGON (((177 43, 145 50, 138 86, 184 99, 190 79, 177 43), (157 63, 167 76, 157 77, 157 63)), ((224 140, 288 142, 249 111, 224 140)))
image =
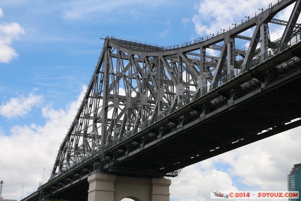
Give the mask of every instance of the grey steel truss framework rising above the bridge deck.
MULTIPOLYGON (((141 124, 206 88, 207 83, 232 73, 235 68, 241 68, 257 55, 274 48, 269 39, 268 23, 286 26, 282 38, 275 43, 298 33, 299 13, 299 0, 278 1, 227 30, 167 47, 107 36, 87 92, 57 153, 51 178, 131 130, 140 129, 141 124), (294 2, 288 22, 273 19, 294 2), (239 35, 252 27, 255 27, 252 38, 239 35), (235 46, 235 39, 249 40, 250 46, 235 46), (221 51, 220 57, 207 55, 207 48, 221 51)), ((228 99, 232 96, 220 94, 228 99)), ((173 126, 180 127, 190 115, 170 121, 175 122, 173 126)), ((161 135, 162 130, 164 128, 153 131, 154 135, 161 135)), ((147 142, 147 139, 142 141, 147 142)))

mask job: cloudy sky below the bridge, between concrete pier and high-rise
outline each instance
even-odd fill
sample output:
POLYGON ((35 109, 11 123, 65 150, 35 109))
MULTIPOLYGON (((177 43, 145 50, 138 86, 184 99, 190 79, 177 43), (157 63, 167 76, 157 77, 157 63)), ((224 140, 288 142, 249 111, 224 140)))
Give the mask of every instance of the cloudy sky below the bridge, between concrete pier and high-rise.
POLYGON ((299 133, 300 127, 184 168, 172 178, 171 200, 209 200, 210 191, 286 191, 287 174, 300 162, 299 133))

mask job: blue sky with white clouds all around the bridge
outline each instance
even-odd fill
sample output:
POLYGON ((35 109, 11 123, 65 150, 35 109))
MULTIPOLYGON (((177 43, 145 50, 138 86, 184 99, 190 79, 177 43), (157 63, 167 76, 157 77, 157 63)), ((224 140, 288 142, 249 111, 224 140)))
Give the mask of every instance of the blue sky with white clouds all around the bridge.
MULTIPOLYGON (((101 37, 180 44, 229 27, 269 3, 0 0, 3 199, 20 200, 48 181, 97 64, 101 37)), ((288 20, 291 10, 275 18, 288 20)), ((284 30, 280 25, 269 28, 272 40, 284 30)), ((244 35, 251 37, 252 31, 244 35)), ((219 52, 207 49, 207 54, 219 52)), ((287 190, 287 174, 301 162, 300 131, 298 127, 184 168, 170 178, 170 200, 205 201, 210 191, 287 190)))

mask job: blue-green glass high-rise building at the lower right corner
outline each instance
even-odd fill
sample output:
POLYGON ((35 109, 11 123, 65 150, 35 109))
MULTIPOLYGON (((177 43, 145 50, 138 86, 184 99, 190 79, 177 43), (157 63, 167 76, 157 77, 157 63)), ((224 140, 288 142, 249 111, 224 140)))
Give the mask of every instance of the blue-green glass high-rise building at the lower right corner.
MULTIPOLYGON (((287 189, 289 191, 299 191, 299 193, 301 193, 301 163, 295 164, 292 171, 290 171, 290 174, 287 175, 287 189)), ((288 200, 301 200, 301 196, 299 195, 298 199, 288 200)))

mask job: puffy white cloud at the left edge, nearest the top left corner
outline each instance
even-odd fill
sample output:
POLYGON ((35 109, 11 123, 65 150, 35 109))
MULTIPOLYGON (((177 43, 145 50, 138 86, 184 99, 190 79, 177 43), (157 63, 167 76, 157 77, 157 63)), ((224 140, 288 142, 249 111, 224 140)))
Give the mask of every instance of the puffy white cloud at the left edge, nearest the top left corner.
MULTIPOLYGON (((1 8, 0 17, 3 17, 1 8)), ((16 22, 0 24, 0 62, 9 63, 12 59, 17 58, 18 53, 10 45, 12 40, 19 39, 21 34, 25 34, 25 31, 16 22)))

